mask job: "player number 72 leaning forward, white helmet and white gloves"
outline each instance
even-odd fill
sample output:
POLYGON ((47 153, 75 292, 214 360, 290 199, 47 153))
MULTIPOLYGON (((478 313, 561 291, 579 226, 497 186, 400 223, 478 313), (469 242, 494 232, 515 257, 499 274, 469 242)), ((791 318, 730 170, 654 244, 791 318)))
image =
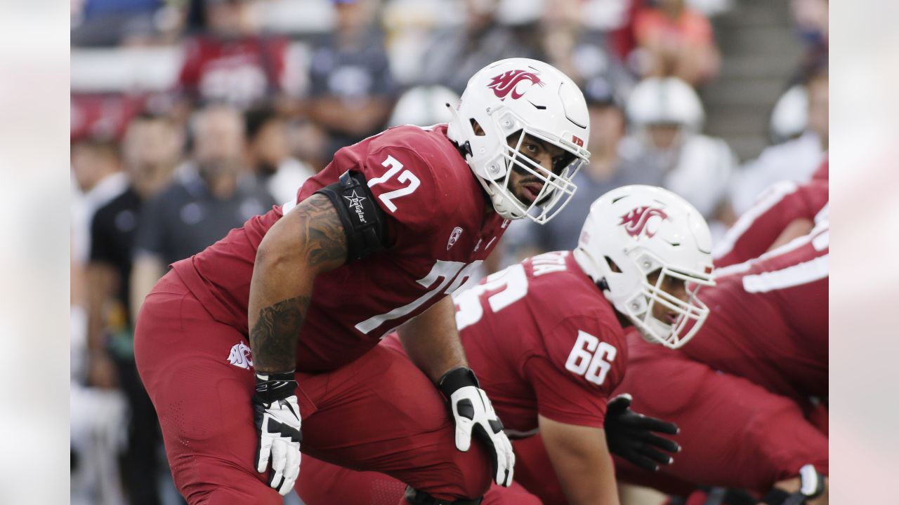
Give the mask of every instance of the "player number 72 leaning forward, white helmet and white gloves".
POLYGON ((588 115, 571 79, 524 58, 479 71, 450 111, 449 125, 341 149, 295 200, 175 262, 147 296, 138 370, 189 502, 280 502, 301 448, 391 474, 413 503, 512 483, 448 295, 510 219, 564 207, 588 115), (377 346, 400 325, 410 359, 377 346))

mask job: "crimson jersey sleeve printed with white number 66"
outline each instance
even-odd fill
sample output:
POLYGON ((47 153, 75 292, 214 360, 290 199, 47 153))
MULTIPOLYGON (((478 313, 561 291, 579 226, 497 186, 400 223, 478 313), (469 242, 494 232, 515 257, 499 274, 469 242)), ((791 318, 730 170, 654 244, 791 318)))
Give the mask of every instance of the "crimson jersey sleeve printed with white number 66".
POLYGON ((593 318, 570 317, 545 334, 545 353, 524 366, 539 414, 601 428, 606 404, 624 378, 628 361, 621 333, 593 318))

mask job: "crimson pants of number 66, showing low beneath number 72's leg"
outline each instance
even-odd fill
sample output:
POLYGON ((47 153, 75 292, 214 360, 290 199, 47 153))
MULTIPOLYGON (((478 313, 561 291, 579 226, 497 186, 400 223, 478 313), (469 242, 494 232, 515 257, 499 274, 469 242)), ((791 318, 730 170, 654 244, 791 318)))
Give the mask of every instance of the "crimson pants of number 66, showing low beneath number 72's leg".
MULTIPOLYGON (((377 472, 356 472, 303 455, 297 492, 306 505, 396 505, 405 483, 377 472)), ((518 477, 518 460, 515 463, 518 477)), ((481 505, 542 505, 539 499, 513 482, 504 488, 491 484, 481 505)))

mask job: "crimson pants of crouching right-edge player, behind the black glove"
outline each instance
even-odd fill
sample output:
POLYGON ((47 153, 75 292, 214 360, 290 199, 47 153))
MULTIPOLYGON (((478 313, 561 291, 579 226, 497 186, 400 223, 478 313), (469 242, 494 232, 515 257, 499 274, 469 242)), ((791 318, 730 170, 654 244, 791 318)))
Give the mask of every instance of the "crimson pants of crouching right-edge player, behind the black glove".
POLYGON ((827 435, 797 403, 679 352, 655 349, 631 354, 614 394, 632 394, 636 412, 676 423, 681 432, 672 439, 681 452, 657 474, 616 457, 619 479, 672 493, 684 491, 674 485, 678 480, 768 492, 802 465, 829 473, 827 435))

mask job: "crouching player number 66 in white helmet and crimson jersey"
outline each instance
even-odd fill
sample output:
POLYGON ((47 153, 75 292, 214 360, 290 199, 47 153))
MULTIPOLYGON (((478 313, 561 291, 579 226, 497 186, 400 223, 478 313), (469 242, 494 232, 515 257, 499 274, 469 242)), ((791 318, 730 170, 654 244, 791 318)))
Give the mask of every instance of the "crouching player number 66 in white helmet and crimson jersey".
MULTIPOLYGON (((454 297, 468 362, 506 433, 527 439, 539 432, 546 447, 551 465, 516 472, 540 501, 618 503, 610 452, 649 469, 670 462, 659 449, 676 445, 654 434, 631 447, 610 436, 622 412, 637 415, 628 398, 610 402, 628 366, 624 327, 633 325, 665 347, 689 341, 708 315, 696 294, 712 284, 711 268, 711 238, 699 211, 671 191, 625 186, 592 204, 574 252, 530 258, 454 297)), ((380 347, 403 350, 396 335, 380 347)), ((641 419, 663 428, 661 421, 641 419)), ((517 462, 534 468, 521 457, 517 462)), ((396 492, 383 475, 311 459, 304 465, 312 470, 301 474, 298 492, 309 505, 334 497, 369 503, 378 492, 396 492)), ((510 492, 494 487, 485 500, 510 492)))

